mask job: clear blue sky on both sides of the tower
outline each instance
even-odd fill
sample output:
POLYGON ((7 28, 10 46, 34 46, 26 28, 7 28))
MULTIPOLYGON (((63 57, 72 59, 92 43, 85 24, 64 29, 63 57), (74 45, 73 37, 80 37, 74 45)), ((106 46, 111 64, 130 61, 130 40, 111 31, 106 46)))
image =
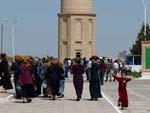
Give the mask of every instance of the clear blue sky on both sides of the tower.
MULTIPOLYGON (((119 51, 129 50, 144 20, 140 0, 94 0, 93 7, 97 55, 115 57, 119 51)), ((57 57, 59 12, 60 0, 0 0, 4 51, 12 55, 11 23, 17 18, 16 54, 57 57)))

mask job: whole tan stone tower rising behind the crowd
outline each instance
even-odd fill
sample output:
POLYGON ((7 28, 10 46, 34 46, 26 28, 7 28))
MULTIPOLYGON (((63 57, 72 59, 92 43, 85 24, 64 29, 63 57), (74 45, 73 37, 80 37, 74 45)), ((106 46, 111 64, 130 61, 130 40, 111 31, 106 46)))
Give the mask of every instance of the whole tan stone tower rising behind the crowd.
POLYGON ((95 55, 95 17, 93 0, 61 0, 58 14, 58 56, 90 58, 95 55))

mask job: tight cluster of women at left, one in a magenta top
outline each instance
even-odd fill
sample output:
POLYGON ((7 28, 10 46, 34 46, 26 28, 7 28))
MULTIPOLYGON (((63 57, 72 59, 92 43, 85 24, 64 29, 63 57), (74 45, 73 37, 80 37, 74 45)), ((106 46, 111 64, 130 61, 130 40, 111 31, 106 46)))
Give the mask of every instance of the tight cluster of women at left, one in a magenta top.
POLYGON ((31 97, 64 96, 64 69, 57 59, 33 59, 28 56, 16 56, 11 70, 14 73, 16 98, 23 98, 24 103, 31 102, 31 97))

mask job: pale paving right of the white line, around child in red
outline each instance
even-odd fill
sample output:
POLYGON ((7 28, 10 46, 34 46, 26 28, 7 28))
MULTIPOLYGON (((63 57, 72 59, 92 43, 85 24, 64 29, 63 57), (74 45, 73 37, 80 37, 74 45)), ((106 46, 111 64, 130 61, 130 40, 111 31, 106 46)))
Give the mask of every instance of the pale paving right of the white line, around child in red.
MULTIPOLYGON (((117 105, 117 82, 105 83, 103 92, 117 105)), ((134 80, 127 86, 129 107, 123 113, 150 113, 150 80, 134 80)))

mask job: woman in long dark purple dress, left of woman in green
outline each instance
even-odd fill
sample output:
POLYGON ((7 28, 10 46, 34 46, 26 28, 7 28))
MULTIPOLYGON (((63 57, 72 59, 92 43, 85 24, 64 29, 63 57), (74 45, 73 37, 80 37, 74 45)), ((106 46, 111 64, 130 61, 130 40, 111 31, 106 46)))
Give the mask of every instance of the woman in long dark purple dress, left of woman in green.
POLYGON ((73 84, 75 87, 77 101, 80 101, 82 98, 82 91, 83 91, 83 73, 84 73, 84 66, 81 65, 81 60, 76 59, 75 64, 72 67, 72 74, 73 74, 73 84))

